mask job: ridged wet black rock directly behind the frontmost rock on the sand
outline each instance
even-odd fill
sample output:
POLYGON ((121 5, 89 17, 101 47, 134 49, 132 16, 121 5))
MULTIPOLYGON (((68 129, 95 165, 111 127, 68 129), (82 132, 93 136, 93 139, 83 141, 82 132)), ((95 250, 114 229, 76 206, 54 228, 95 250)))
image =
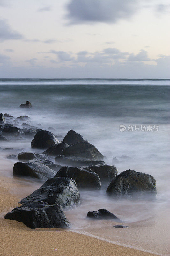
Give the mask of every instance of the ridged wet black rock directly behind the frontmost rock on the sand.
POLYGON ((47 202, 49 205, 60 204, 62 208, 71 209, 80 205, 80 194, 73 179, 51 178, 20 203, 25 204, 35 200, 47 202))

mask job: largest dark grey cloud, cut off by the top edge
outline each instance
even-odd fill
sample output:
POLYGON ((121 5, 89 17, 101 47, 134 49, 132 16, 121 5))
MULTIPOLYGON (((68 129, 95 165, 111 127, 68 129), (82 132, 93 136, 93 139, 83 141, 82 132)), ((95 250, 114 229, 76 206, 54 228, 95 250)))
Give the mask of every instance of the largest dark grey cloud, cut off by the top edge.
POLYGON ((137 0, 71 0, 67 5, 70 24, 116 23, 137 11, 137 0))

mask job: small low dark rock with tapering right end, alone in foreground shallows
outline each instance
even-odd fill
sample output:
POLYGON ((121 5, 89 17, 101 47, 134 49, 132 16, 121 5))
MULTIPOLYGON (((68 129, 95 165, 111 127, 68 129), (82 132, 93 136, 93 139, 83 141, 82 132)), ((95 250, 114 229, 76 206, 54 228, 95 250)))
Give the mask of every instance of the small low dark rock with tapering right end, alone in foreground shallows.
POLYGON ((109 212, 106 209, 99 209, 98 211, 90 211, 87 213, 87 217, 94 219, 114 219, 117 222, 122 222, 119 218, 117 218, 113 213, 109 212))

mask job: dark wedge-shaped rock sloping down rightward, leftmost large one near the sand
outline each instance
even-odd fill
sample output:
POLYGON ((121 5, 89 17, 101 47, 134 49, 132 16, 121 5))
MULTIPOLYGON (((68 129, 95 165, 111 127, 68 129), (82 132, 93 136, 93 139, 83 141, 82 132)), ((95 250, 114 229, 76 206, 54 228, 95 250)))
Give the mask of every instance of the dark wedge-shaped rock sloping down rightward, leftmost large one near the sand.
POLYGON ((30 176, 40 180, 54 177, 56 172, 48 166, 33 162, 17 162, 13 167, 13 175, 30 176))

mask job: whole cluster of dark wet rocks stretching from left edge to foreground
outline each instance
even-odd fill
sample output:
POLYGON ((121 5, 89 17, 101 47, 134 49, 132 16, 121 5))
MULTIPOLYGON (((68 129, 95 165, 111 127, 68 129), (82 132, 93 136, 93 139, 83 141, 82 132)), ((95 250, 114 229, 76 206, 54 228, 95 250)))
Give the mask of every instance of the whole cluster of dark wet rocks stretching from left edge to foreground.
MULTIPOLYGON (((24 116, 19 118, 23 121, 24 116)), ((1 125, 2 134, 7 133, 8 129, 15 135, 21 133, 15 126, 5 126, 2 113, 0 122, 4 122, 1 125)), ((23 126, 25 129, 34 129, 35 132, 36 127, 30 127, 27 123, 23 126)), ((117 168, 107 165, 104 162, 106 157, 73 130, 60 142, 53 133, 36 129, 31 148, 45 151, 41 154, 19 153, 13 175, 30 176, 45 183, 22 199, 20 207, 14 208, 4 217, 21 221, 30 228, 70 228, 63 209, 71 209, 81 204, 78 189, 100 190, 103 184, 107 184, 109 186, 106 193, 113 199, 136 199, 144 196, 153 199, 156 196, 156 181, 151 175, 134 170, 126 170, 117 175, 117 168)), ((121 222, 106 209, 90 211, 87 216, 121 222)))

